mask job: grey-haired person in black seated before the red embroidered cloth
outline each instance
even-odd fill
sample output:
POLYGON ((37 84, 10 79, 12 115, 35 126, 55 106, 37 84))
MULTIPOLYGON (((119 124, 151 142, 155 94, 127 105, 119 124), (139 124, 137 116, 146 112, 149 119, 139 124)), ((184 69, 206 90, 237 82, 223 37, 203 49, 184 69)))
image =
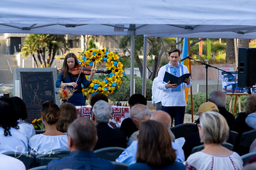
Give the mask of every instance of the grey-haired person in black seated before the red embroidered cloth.
POLYGON ((111 106, 106 101, 97 101, 92 109, 92 121, 97 128, 98 141, 93 150, 100 148, 119 146, 126 148, 125 132, 112 129, 108 125, 111 116, 111 106))

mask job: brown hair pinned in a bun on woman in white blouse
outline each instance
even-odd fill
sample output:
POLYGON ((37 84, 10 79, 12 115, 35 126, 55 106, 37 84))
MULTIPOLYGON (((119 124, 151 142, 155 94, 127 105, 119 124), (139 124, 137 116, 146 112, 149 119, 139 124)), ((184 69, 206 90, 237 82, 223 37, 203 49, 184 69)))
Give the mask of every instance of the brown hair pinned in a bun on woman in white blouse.
POLYGON ((60 118, 60 108, 53 101, 46 101, 42 104, 42 118, 47 124, 55 124, 60 118))

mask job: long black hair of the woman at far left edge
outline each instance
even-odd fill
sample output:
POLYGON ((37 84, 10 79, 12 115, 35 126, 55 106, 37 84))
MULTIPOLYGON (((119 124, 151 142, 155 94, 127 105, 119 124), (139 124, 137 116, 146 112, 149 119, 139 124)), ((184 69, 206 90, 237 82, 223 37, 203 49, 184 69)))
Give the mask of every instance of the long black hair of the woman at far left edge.
POLYGON ((12 101, 8 97, 0 98, 0 126, 4 129, 4 136, 12 136, 11 127, 19 129, 17 125, 17 119, 15 117, 15 111, 13 109, 12 101))

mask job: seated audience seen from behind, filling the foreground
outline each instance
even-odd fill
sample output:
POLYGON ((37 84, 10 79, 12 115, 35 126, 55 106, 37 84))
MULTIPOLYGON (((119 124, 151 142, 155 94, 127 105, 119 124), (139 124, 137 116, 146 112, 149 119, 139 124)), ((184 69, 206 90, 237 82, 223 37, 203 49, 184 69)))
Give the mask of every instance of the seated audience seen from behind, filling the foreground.
MULTIPOLYGON (((52 160, 46 169, 115 169, 108 160, 99 159, 94 150, 122 147, 124 152, 116 162, 129 164, 128 169, 243 169, 241 155, 221 144, 234 143, 231 131, 241 133, 255 129, 256 95, 246 99, 246 113, 235 119, 225 109, 227 96, 212 91, 209 101, 202 103, 195 121, 195 132, 185 138, 182 147, 171 131, 172 118, 165 111, 150 113, 147 100, 134 94, 129 100, 130 118, 123 120, 120 129, 108 122, 111 105, 108 97, 92 97, 92 120, 77 118, 77 110, 70 103, 60 108, 52 101, 42 104, 41 118, 45 132, 35 134, 33 125, 26 122, 26 104, 19 97, 0 98, 0 157, 1 169, 26 169, 5 152, 29 153, 38 156, 59 149, 69 149, 70 155, 52 160), (254 118, 254 119, 253 119, 254 118), (237 125, 241 125, 237 127, 237 125), (204 145, 191 154, 193 147, 204 145), (15 164, 10 164, 15 162, 15 164)), ((256 138, 256 137, 255 137, 256 138)), ((256 152, 256 139, 250 152, 256 152)), ((245 168, 250 168, 255 158, 245 168)))

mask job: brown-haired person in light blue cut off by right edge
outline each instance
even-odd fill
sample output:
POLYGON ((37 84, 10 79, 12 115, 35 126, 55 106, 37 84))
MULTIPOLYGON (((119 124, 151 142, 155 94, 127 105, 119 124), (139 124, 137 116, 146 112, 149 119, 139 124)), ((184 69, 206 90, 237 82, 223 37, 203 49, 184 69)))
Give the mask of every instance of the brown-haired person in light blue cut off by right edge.
POLYGON ((248 114, 248 117, 245 119, 246 124, 256 129, 256 94, 246 97, 245 111, 248 114))

